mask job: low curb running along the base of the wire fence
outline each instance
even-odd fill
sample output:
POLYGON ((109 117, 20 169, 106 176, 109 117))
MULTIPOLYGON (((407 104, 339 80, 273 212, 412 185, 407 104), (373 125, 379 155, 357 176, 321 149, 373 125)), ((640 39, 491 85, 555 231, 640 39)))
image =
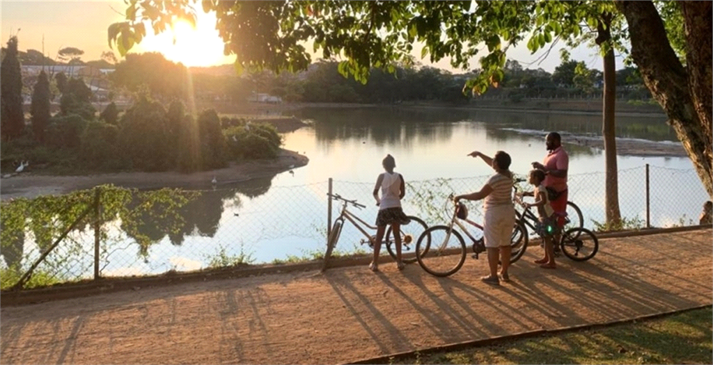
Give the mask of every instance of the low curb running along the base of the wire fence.
MULTIPOLYGON (((674 228, 649 228, 641 231, 625 231, 611 233, 595 233, 597 238, 621 238, 629 236, 648 236, 661 233, 677 233, 685 231, 696 231, 711 228, 711 226, 686 226, 674 228)), ((531 243, 531 242, 530 242, 531 243)), ((390 263, 391 256, 381 255, 379 263, 390 263)), ((347 268, 352 266, 368 265, 371 262, 371 254, 363 256, 351 256, 346 258, 331 258, 329 268, 347 268)), ((309 261, 307 263, 294 263, 285 265, 261 265, 261 266, 237 266, 235 268, 221 268, 215 270, 202 270, 192 273, 165 273, 162 275, 146 277, 106 277, 89 282, 59 284, 53 287, 42 287, 39 289, 26 290, 4 290, 0 292, 0 306, 27 305, 37 302, 48 302, 52 300, 64 300, 76 297, 89 297, 101 295, 109 292, 120 292, 124 290, 140 290, 145 287, 158 285, 174 285, 185 282, 199 282, 216 279, 234 279, 239 277, 250 277, 256 275, 272 275, 282 273, 294 273, 299 271, 321 270, 324 262, 322 260, 309 261)), ((418 265, 418 264, 416 264, 418 265)))

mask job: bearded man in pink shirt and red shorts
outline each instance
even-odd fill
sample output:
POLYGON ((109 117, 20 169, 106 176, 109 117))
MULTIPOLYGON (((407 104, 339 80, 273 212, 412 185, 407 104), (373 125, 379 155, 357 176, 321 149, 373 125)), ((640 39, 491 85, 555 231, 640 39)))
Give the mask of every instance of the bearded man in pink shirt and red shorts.
POLYGON ((557 199, 550 201, 555 213, 558 213, 557 223, 560 228, 565 225, 567 211, 567 169, 570 157, 562 148, 562 138, 558 132, 550 132, 545 137, 545 145, 550 152, 545 157, 544 164, 533 162, 533 168, 545 171, 545 188, 558 192, 557 199))

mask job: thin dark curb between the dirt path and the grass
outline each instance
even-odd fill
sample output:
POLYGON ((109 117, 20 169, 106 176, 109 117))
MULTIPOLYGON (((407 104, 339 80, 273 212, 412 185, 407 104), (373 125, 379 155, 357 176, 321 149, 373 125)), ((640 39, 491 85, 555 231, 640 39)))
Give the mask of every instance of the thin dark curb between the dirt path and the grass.
POLYGON ((634 318, 629 318, 629 319, 622 319, 622 320, 613 321, 613 322, 597 323, 597 324, 582 324, 579 326, 563 327, 563 328, 558 328, 558 329, 540 329, 537 331, 519 332, 516 334, 507 334, 505 336, 491 337, 489 339, 476 339, 473 341, 456 342, 454 344, 445 344, 442 346, 429 347, 426 349, 419 349, 419 350, 414 350, 414 351, 405 351, 405 352, 399 352, 396 354, 377 356, 377 357, 372 357, 370 359, 360 359, 360 360, 356 360, 356 361, 347 362, 344 364, 391 364, 393 361, 409 359, 411 357, 416 356, 416 354, 424 355, 424 354, 435 354, 438 352, 446 352, 446 351, 461 351, 461 350, 469 349, 472 347, 488 346, 490 344, 495 344, 495 343, 503 342, 503 341, 513 341, 516 339, 525 339, 525 338, 530 338, 530 337, 538 337, 538 336, 542 336, 542 335, 578 332, 578 331, 583 331, 583 330, 588 330, 588 329, 600 329, 600 328, 605 328, 605 327, 612 327, 617 324, 628 324, 628 323, 633 323, 633 322, 637 322, 637 321, 645 321, 648 319, 656 319, 659 317, 666 317, 671 314, 690 312, 692 310, 702 310, 705 308, 713 308, 713 305, 701 305, 698 307, 689 307, 689 308, 686 308, 683 310, 673 310, 670 312, 649 314, 649 315, 645 315, 645 316, 639 316, 639 317, 634 317, 634 318))

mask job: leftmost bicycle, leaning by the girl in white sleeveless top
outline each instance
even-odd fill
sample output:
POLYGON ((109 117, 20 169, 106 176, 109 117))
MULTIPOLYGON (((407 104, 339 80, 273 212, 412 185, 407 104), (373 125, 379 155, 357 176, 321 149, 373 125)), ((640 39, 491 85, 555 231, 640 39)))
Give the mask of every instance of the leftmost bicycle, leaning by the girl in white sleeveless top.
MULTIPOLYGON (((342 196, 339 196, 339 194, 327 194, 330 199, 334 199, 337 201, 342 201, 342 209, 341 212, 339 213, 339 216, 337 219, 334 220, 334 224, 332 224, 332 231, 329 232, 329 237, 327 238, 327 254, 326 257, 329 257, 331 255, 332 250, 334 249, 335 246, 337 246, 337 242, 339 241, 339 236, 342 233, 342 228, 344 228, 344 221, 349 221, 356 227, 356 229, 359 230, 366 239, 362 239, 359 241, 361 245, 368 244, 369 247, 373 250, 374 249, 374 243, 376 242, 376 235, 371 235, 369 232, 366 231, 366 228, 370 229, 371 231, 376 231, 377 227, 376 226, 371 226, 369 223, 366 223, 363 219, 359 218, 356 216, 354 213, 349 211, 347 206, 352 205, 354 208, 366 208, 363 204, 357 203, 356 200, 349 200, 349 199, 344 199, 342 196)), ((426 228, 428 226, 426 223, 419 217, 416 216, 407 216, 411 222, 409 224, 404 224, 401 225, 401 261, 404 263, 415 263, 416 262, 416 257, 404 257, 404 256, 411 256, 411 248, 415 248, 415 245, 411 245, 411 243, 414 240, 414 237, 419 237, 421 236, 421 233, 426 231, 426 228), (418 236, 416 236, 418 235, 418 236)), ((386 245, 386 251, 389 252, 389 255, 391 255, 391 258, 394 258, 396 260, 396 239, 394 237, 394 233, 391 231, 391 226, 389 226, 386 229, 386 232, 384 233, 384 238, 381 241, 381 243, 384 243, 386 245)))

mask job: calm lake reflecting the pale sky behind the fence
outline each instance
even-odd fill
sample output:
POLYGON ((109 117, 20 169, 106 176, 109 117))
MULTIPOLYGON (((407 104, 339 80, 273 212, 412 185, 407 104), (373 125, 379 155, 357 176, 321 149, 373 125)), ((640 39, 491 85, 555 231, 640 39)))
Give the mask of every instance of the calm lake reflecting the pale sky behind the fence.
MULTIPOLYGON (((156 240, 147 255, 139 255, 137 245, 114 228, 115 238, 103 255, 103 275, 196 270, 225 263, 240 253, 253 263, 323 253, 329 179, 333 179, 334 193, 364 203, 366 208, 356 213, 373 223, 378 208, 371 191, 386 154, 395 157, 396 171, 408 183, 406 213, 421 216, 429 224, 441 223, 444 196, 477 191, 493 172, 481 159, 466 154, 478 150, 492 156, 504 150, 513 158, 511 170, 527 174, 531 162, 545 157, 544 137, 550 131, 563 134, 570 156, 570 200, 582 209, 585 226, 592 228, 594 221, 604 221, 604 154, 568 143, 600 138, 598 115, 391 107, 317 108, 289 114, 309 121, 308 127, 284 134, 284 148, 307 155, 307 166, 204 191, 184 210, 186 223, 180 234, 169 237, 145 228, 156 240), (437 199, 424 206, 428 203, 424 196, 434 192, 437 199)), ((617 117, 617 137, 679 143, 663 115, 617 117)), ((652 226, 690 224, 691 219, 697 224, 708 196, 687 157, 620 155, 617 164, 622 216, 645 221, 649 164, 652 226)), ((480 203, 470 206, 477 217, 480 203)), ((363 250, 361 238, 361 233, 347 226, 337 250, 363 250)), ((32 251, 31 245, 26 244, 26 252, 32 251)), ((86 252, 89 257, 78 258, 73 273, 85 268, 91 273, 91 243, 86 252)))

